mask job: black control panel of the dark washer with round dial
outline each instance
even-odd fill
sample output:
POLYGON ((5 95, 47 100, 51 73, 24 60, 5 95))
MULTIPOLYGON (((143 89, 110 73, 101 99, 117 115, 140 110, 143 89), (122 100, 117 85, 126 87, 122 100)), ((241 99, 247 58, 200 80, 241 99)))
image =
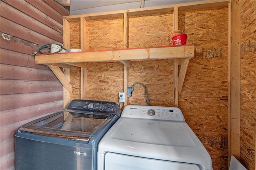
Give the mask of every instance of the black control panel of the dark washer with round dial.
POLYGON ((120 107, 114 102, 80 100, 75 99, 70 102, 67 110, 90 111, 94 113, 120 114, 120 107))

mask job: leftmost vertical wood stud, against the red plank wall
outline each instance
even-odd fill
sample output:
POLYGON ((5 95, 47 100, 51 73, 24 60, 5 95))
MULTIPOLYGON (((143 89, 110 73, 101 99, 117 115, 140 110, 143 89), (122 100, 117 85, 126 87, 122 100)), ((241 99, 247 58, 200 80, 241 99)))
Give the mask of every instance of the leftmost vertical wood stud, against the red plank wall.
MULTIPOLYGON (((70 24, 66 19, 63 19, 63 47, 70 49, 70 24)), ((70 69, 64 69, 64 75, 70 82, 70 69)), ((63 109, 68 107, 68 104, 70 103, 70 95, 68 90, 63 87, 63 109)))

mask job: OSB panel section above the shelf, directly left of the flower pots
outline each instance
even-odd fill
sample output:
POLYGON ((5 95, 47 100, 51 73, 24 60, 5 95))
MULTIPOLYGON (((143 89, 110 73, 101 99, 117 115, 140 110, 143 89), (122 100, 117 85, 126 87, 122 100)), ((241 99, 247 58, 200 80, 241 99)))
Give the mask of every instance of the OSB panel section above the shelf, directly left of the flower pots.
POLYGON ((129 18, 129 48, 168 45, 173 30, 173 14, 143 15, 129 18))

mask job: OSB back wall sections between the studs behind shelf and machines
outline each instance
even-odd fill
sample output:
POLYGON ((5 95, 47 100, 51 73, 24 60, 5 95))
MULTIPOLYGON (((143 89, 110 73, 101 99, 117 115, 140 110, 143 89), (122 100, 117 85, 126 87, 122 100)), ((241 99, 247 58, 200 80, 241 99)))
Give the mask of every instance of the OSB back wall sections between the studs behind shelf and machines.
MULTIPOLYGON (((215 170, 228 167, 228 7, 179 12, 179 29, 188 35, 196 55, 190 59, 179 107, 212 157, 215 170), (221 17, 220 17, 221 16, 221 17)), ((168 45, 173 29, 170 13, 129 18, 129 47, 168 45)), ((70 23, 70 48, 80 48, 80 23, 70 23)), ((89 20, 86 23, 86 49, 123 48, 122 18, 89 20)), ((128 86, 136 82, 147 87, 151 105, 172 106, 173 60, 132 61, 128 86)), ((87 99, 118 102, 123 89, 123 65, 89 63, 87 99)), ((80 70, 71 71, 73 95, 80 98, 80 70), (76 91, 76 92, 74 92, 76 91)), ((125 90, 126 92, 126 90, 125 90)), ((146 105, 144 89, 134 87, 130 105, 146 105)))

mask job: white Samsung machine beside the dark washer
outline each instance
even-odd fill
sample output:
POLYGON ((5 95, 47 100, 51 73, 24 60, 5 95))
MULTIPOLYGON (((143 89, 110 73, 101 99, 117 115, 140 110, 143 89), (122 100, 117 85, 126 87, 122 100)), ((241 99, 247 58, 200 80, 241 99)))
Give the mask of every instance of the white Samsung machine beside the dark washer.
POLYGON ((176 107, 124 108, 98 146, 99 170, 212 170, 212 159, 176 107))

